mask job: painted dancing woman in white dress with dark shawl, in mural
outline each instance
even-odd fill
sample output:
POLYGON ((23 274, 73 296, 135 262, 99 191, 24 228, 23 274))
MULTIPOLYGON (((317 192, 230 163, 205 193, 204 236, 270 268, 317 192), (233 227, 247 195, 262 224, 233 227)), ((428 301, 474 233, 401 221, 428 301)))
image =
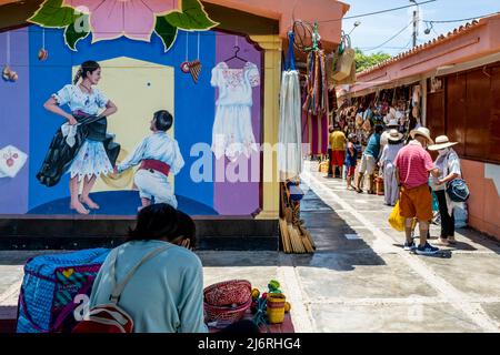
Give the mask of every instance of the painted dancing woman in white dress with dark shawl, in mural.
POLYGON ((106 134, 106 118, 117 112, 117 106, 97 88, 101 79, 101 68, 94 61, 86 61, 78 70, 73 84, 68 84, 43 104, 56 114, 68 120, 52 140, 49 153, 37 178, 52 186, 64 172, 70 173, 70 207, 80 214, 89 214, 89 209, 98 210, 89 194, 100 174, 113 172, 119 145, 106 134), (61 106, 68 104, 71 113, 61 106), (101 112, 102 111, 102 112, 101 112), (62 155, 62 156, 61 156, 62 155), (79 196, 80 182, 83 190, 79 196))

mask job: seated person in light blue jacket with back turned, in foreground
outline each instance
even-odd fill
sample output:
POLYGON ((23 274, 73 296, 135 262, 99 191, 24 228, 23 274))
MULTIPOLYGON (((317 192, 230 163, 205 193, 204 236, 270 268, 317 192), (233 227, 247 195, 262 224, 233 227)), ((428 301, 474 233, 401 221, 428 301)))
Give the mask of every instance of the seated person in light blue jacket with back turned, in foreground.
POLYGON ((153 204, 138 214, 137 226, 127 243, 111 251, 96 278, 90 306, 109 302, 110 280, 117 253, 118 282, 141 258, 164 247, 143 263, 123 290, 119 306, 133 320, 136 333, 206 333, 203 323, 203 271, 191 252, 196 226, 191 217, 167 203, 153 204))

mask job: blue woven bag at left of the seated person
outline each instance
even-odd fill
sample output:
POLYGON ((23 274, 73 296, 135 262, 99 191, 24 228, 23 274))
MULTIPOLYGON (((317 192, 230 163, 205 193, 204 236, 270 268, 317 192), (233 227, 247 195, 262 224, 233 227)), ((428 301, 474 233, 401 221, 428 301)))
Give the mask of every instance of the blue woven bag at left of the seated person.
POLYGON ((18 303, 18 333, 70 332, 78 295, 89 296, 109 248, 39 255, 24 265, 18 303))

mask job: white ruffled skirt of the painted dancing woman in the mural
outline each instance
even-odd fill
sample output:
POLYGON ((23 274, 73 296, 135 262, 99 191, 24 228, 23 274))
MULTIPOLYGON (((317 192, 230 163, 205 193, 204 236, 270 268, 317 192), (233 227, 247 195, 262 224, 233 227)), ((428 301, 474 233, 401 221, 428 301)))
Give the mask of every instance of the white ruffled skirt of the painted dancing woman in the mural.
POLYGON ((112 173, 112 171, 113 166, 109 161, 102 142, 90 140, 83 142, 69 169, 71 179, 78 176, 79 181, 83 176, 90 179, 92 175, 96 175, 99 178, 101 174, 107 175, 112 173))

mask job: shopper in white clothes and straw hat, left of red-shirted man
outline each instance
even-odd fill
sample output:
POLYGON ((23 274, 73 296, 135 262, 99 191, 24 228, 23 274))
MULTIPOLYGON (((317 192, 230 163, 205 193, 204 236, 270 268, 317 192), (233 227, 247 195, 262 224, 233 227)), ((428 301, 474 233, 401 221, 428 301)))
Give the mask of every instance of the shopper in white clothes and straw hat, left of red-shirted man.
MULTIPOLYGON (((386 133, 386 132, 384 132, 386 133)), ((399 186, 396 180, 394 160, 399 151, 404 146, 403 134, 398 130, 390 130, 388 134, 388 144, 382 150, 379 166, 383 171, 383 196, 386 204, 396 205, 399 200, 399 186)))

